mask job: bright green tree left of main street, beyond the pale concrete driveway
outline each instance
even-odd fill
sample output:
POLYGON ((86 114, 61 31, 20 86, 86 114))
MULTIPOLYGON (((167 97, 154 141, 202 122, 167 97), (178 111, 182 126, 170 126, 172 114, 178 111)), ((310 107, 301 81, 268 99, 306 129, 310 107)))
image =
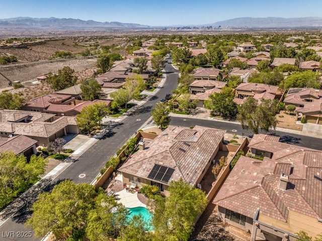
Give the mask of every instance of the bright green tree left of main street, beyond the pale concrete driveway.
POLYGON ((109 113, 109 108, 104 102, 96 103, 83 108, 76 116, 79 128, 91 133, 95 127, 101 124, 102 119, 109 113))

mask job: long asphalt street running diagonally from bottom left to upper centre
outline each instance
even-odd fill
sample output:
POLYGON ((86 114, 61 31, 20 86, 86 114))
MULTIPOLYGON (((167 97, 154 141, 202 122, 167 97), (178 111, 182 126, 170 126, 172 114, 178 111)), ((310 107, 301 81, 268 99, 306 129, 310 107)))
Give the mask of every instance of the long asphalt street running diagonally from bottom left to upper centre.
MULTIPOLYGON (((131 112, 121 123, 112 128, 102 139, 93 144, 85 153, 79 156, 68 168, 66 168, 58 177, 56 177, 51 185, 69 179, 75 183, 91 183, 98 175, 101 168, 104 167, 106 161, 110 156, 114 155, 116 151, 125 144, 125 142, 151 117, 151 110, 155 103, 160 99, 165 98, 166 94, 171 93, 177 87, 178 70, 173 68, 171 64, 166 64, 167 81, 165 85, 160 88, 157 94, 141 107, 131 112), (85 174, 84 178, 79 178, 80 174, 85 174)), ((24 200, 23 208, 13 214, 7 221, 0 224, 0 240, 9 241, 34 241, 41 240, 41 238, 34 237, 34 233, 29 235, 28 231, 23 226, 27 220, 32 203, 36 200, 37 192, 32 198, 24 200), (27 236, 21 236, 23 231, 27 232, 27 236), (12 234, 12 235, 11 235, 12 234), (11 236, 10 236, 11 235, 11 236), (13 236, 14 235, 14 236, 13 236)))

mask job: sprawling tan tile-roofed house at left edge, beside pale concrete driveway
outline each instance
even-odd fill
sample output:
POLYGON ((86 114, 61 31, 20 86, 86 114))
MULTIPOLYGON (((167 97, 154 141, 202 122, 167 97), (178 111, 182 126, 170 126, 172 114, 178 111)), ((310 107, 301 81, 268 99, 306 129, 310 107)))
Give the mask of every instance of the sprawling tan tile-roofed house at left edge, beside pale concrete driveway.
POLYGON ((0 122, 1 137, 25 135, 35 139, 38 145, 47 145, 67 133, 79 133, 74 117, 35 111, 2 110, 0 122))

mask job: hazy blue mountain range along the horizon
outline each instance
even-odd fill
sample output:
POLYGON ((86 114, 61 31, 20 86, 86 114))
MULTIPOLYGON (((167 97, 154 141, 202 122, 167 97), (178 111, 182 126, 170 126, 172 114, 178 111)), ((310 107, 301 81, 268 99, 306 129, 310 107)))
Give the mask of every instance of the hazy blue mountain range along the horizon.
MULTIPOLYGON (((235 18, 225 21, 220 21, 212 24, 192 25, 192 26, 213 26, 222 28, 285 28, 285 27, 322 27, 322 18, 304 17, 304 18, 235 18)), ((175 26, 175 25, 173 25, 175 26)), ((160 28, 148 25, 140 25, 135 23, 120 23, 120 22, 96 22, 93 20, 80 20, 71 18, 29 18, 18 17, 10 19, 0 19, 1 27, 19 27, 24 29, 151 29, 160 28)), ((161 26, 167 27, 167 26, 161 26)))

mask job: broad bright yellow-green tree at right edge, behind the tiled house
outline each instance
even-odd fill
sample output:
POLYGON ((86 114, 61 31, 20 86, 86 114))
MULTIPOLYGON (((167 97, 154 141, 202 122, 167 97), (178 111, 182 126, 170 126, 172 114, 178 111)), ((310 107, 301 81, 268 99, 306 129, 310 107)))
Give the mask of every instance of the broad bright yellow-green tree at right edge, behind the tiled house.
POLYGON ((321 82, 319 77, 319 73, 311 70, 296 72, 287 76, 287 78, 281 82, 280 87, 283 89, 304 87, 320 89, 321 82))

